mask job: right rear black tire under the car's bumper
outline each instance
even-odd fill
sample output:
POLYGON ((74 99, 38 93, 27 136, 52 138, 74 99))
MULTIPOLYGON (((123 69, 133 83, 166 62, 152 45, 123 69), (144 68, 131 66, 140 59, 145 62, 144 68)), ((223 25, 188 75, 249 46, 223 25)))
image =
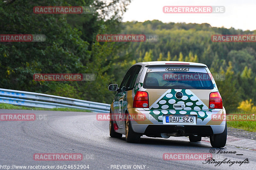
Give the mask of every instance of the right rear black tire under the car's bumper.
POLYGON ((210 142, 211 142, 212 147, 214 147, 214 148, 222 148, 226 145, 226 142, 227 142, 227 122, 226 122, 226 126, 225 126, 224 131, 220 134, 212 135, 210 137, 210 142))

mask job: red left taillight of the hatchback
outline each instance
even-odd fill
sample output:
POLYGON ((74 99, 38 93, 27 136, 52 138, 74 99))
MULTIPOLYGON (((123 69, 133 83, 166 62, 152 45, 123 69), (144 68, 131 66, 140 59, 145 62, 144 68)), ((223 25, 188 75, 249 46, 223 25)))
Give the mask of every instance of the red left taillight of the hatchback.
POLYGON ((148 108, 148 93, 137 91, 133 100, 134 108, 148 108))

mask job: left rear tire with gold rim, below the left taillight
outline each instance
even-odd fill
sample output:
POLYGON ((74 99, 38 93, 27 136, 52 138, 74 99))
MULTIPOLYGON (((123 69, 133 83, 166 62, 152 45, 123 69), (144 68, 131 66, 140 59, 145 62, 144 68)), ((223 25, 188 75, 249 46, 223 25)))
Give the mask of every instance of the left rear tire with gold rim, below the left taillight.
POLYGON ((133 132, 131 122, 128 120, 127 115, 125 120, 125 140, 126 142, 129 142, 129 143, 140 142, 140 134, 133 132))

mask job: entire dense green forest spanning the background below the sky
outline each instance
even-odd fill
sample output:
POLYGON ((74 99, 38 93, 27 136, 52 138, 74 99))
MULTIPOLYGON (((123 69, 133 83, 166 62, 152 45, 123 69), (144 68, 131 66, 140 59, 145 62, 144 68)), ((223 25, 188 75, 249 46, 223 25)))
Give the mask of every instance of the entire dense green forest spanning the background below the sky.
POLYGON ((212 42, 212 34, 256 34, 210 24, 121 22, 130 0, 0 1, 1 34, 45 34, 45 42, 0 43, 0 87, 111 103, 111 83, 120 84, 130 66, 143 61, 206 64, 217 81, 224 107, 256 104, 256 44, 212 42), (8 1, 9 2, 9 1, 8 1), (34 14, 34 6, 93 6, 94 14, 34 14), (98 42, 97 34, 156 34, 157 42, 98 42), (34 81, 35 73, 94 73, 95 81, 34 81), (249 102, 249 103, 248 103, 249 102), (239 104, 240 103, 240 104, 239 104))

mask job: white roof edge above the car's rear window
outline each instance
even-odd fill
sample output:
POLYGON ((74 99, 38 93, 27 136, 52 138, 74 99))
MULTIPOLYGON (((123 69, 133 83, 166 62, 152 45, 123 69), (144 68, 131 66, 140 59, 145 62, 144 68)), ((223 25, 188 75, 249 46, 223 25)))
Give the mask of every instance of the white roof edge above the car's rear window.
POLYGON ((142 65, 142 66, 159 66, 159 65, 164 65, 164 66, 177 66, 177 65, 187 65, 187 66, 201 66, 201 67, 207 67, 203 63, 193 63, 193 62, 181 62, 181 61, 150 61, 150 62, 141 62, 141 63, 136 63, 134 65, 142 65))

